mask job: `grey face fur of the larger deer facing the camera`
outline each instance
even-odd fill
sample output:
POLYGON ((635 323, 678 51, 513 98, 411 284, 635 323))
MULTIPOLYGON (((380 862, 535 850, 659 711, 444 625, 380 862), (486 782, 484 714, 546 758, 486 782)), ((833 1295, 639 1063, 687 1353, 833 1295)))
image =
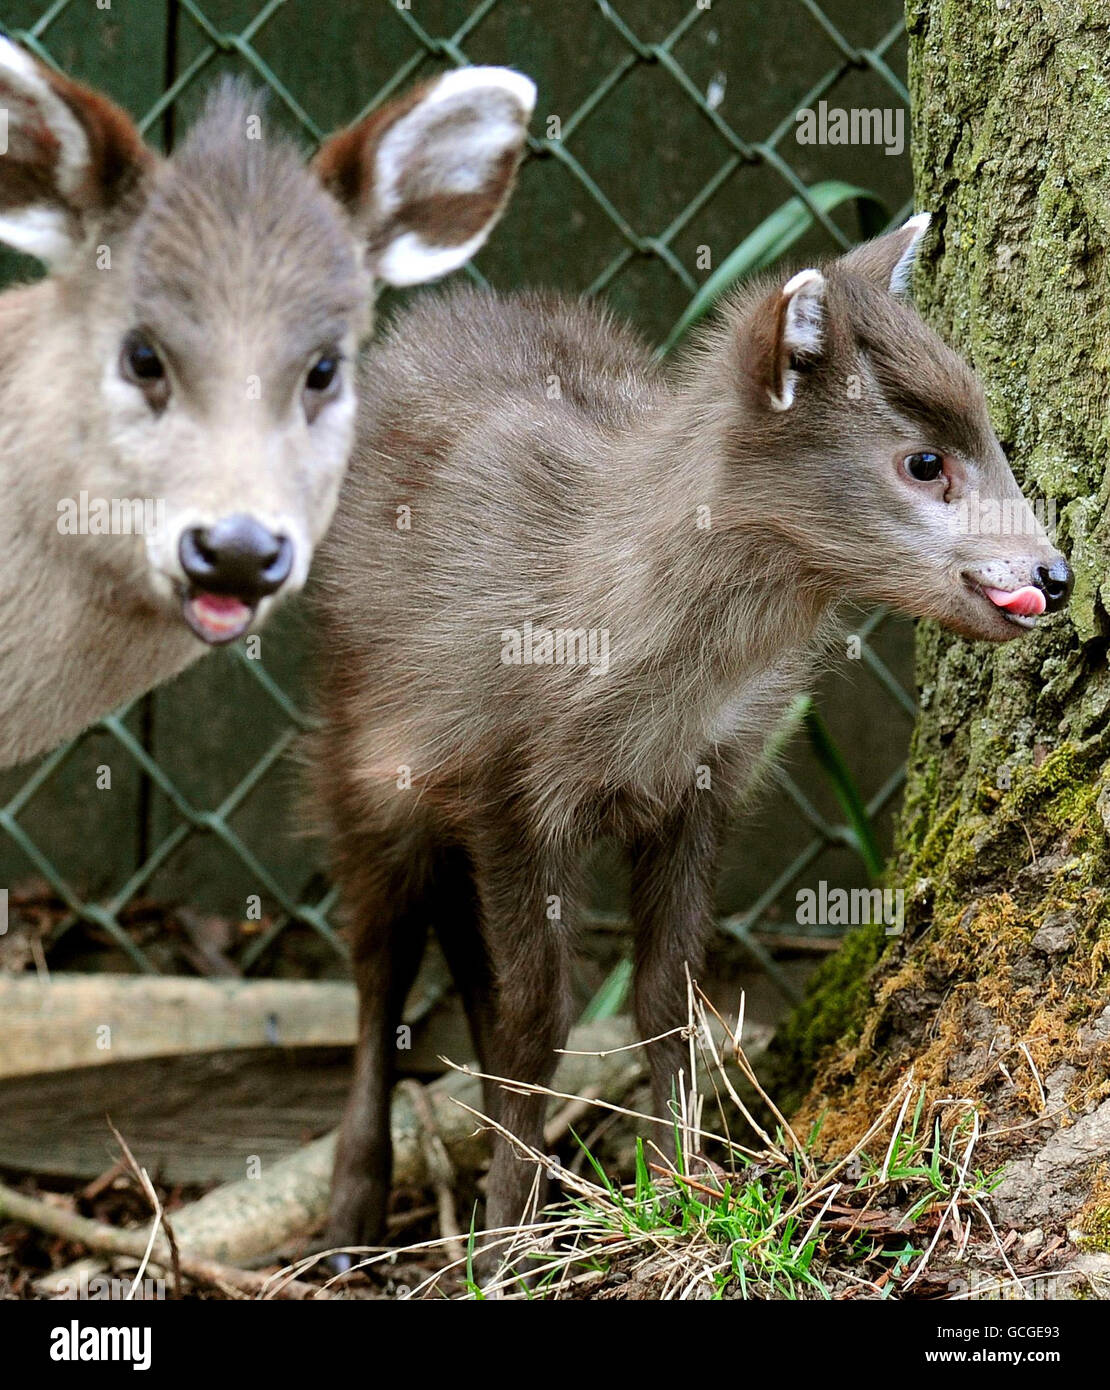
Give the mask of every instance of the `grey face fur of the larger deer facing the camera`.
MULTIPOLYGON (((129 480, 164 499, 164 524, 143 539, 151 598, 167 609, 196 605, 185 534, 235 516, 285 538, 292 563, 272 596, 229 596, 261 614, 299 589, 350 452, 370 272, 296 150, 250 138, 256 106, 218 92, 181 153, 149 175, 133 221, 108 234, 113 272, 82 277, 103 457, 92 468, 82 459, 81 480, 129 480), (136 342, 157 357, 153 378, 128 360, 136 342), (314 392, 321 363, 338 368, 314 392)), ((250 614, 232 617, 226 634, 199 624, 199 635, 239 635, 250 614)))

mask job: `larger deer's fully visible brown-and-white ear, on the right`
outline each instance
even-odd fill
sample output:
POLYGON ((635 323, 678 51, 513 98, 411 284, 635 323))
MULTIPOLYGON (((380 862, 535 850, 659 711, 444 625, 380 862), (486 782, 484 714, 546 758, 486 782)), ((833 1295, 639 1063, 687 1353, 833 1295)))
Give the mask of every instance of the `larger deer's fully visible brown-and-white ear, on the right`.
POLYGON ((457 270, 482 245, 517 175, 532 82, 460 68, 332 136, 314 168, 367 238, 389 285, 457 270))

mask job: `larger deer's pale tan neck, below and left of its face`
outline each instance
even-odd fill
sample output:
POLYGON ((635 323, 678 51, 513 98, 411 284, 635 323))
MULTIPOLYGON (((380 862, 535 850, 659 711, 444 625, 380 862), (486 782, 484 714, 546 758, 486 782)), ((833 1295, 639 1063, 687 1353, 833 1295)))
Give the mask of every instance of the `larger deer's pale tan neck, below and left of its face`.
POLYGON ((44 281, 0 296, 0 766, 81 733, 196 655, 183 624, 100 564, 104 539, 58 532, 58 502, 104 450, 65 386, 86 345, 50 331, 54 295, 44 281))

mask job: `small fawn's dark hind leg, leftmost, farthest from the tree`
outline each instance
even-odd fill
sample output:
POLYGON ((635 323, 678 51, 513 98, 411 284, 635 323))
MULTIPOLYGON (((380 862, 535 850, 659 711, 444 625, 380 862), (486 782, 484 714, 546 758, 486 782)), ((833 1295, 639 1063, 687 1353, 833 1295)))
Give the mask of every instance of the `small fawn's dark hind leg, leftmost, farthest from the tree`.
POLYGON ((354 1077, 335 1152, 331 1245, 368 1245, 385 1223, 393 1168, 389 1102, 397 1027, 426 938, 433 855, 426 840, 399 837, 345 847, 338 865, 358 987, 354 1077))

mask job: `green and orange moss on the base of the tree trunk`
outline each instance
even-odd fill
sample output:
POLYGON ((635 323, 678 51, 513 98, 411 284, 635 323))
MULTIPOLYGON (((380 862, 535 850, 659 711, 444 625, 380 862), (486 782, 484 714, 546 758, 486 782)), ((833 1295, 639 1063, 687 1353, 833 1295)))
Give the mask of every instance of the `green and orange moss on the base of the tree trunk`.
MULTIPOLYGON (((907 1012, 907 1004, 922 992, 943 998, 914 1056, 918 1077, 938 1091, 946 1091, 952 1062, 966 1047, 964 1001, 1027 1038, 1042 1074, 1056 1059, 1077 1061, 1077 1030, 1110 997, 1102 785, 1089 748, 1060 745, 1017 769, 1006 791, 996 788, 989 815, 954 801, 917 840, 911 858, 903 851, 893 877, 910 890, 906 934, 884 954, 881 931, 853 931, 814 974, 772 1045, 775 1094, 790 1106, 804 1099, 803 1123, 828 1109, 835 1116, 825 1122, 829 1141, 867 1127, 891 1077, 909 1062, 903 1030, 914 1009, 907 1012), (1016 872, 1038 856, 1053 866, 1049 877, 1018 891, 1016 872), (1050 988, 1031 990, 1016 970, 1027 967, 1029 942, 1053 913, 1074 917, 1075 947, 1056 965, 1050 988)), ((1091 1095, 1099 1086, 1091 1068, 1081 1069, 1077 1088, 1091 1095)), ((1031 1113, 1038 1111, 1031 1074, 1021 1073, 1017 1094, 1031 1113)))

